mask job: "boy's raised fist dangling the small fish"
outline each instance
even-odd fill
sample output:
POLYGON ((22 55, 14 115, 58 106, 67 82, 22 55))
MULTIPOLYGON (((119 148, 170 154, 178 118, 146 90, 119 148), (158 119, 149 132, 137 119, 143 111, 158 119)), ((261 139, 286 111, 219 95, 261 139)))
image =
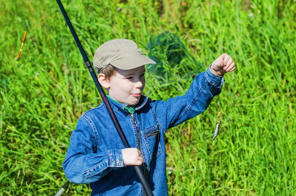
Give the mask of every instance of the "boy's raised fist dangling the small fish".
POLYGON ((213 74, 222 76, 224 73, 234 71, 235 63, 228 54, 224 53, 212 63, 210 70, 213 74))

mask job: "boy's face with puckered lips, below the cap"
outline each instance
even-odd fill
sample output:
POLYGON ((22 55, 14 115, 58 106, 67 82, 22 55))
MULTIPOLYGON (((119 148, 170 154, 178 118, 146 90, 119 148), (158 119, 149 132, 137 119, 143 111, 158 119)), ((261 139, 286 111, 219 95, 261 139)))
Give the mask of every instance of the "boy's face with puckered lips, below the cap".
POLYGON ((116 68, 116 74, 108 81, 108 94, 118 102, 126 103, 128 107, 136 105, 145 86, 145 71, 144 65, 131 70, 116 68))

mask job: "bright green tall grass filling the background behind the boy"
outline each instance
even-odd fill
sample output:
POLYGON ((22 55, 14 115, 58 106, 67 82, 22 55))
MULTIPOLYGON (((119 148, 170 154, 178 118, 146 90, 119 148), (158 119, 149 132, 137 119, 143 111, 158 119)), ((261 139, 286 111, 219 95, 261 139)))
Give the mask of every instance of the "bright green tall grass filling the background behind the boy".
MULTIPOLYGON (((92 61, 109 39, 176 34, 197 62, 147 74, 145 94, 185 93, 222 53, 236 63, 200 116, 167 131, 170 195, 296 195, 296 0, 63 0, 92 61), (187 75, 186 75, 187 76, 187 75), (217 120, 220 135, 211 142, 217 120)), ((0 195, 54 195, 77 119, 101 102, 55 0, 0 0, 0 195), (26 23, 31 21, 20 60, 26 23)), ((90 195, 71 184, 65 195, 90 195)))

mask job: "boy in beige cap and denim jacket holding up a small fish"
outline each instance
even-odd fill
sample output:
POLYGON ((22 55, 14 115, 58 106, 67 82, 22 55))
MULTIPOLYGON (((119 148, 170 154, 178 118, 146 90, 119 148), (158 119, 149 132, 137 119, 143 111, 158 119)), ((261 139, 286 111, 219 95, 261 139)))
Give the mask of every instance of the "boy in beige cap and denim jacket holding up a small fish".
POLYGON ((144 196, 131 166, 142 165, 154 196, 167 196, 166 130, 204 112, 220 94, 222 75, 235 69, 234 62, 222 54, 194 78, 184 96, 166 102, 142 95, 145 65, 155 62, 134 41, 107 41, 97 49, 93 62, 131 148, 124 149, 102 102, 78 120, 63 163, 66 176, 74 183, 90 183, 92 196, 144 196))

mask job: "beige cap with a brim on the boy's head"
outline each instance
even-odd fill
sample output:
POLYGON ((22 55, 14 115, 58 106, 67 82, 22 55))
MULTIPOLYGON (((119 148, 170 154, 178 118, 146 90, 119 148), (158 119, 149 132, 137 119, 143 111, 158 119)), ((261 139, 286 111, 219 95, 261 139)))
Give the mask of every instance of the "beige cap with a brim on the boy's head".
POLYGON ((121 70, 130 70, 146 64, 156 64, 145 56, 141 48, 129 39, 112 39, 95 52, 94 68, 100 73, 109 64, 121 70))

